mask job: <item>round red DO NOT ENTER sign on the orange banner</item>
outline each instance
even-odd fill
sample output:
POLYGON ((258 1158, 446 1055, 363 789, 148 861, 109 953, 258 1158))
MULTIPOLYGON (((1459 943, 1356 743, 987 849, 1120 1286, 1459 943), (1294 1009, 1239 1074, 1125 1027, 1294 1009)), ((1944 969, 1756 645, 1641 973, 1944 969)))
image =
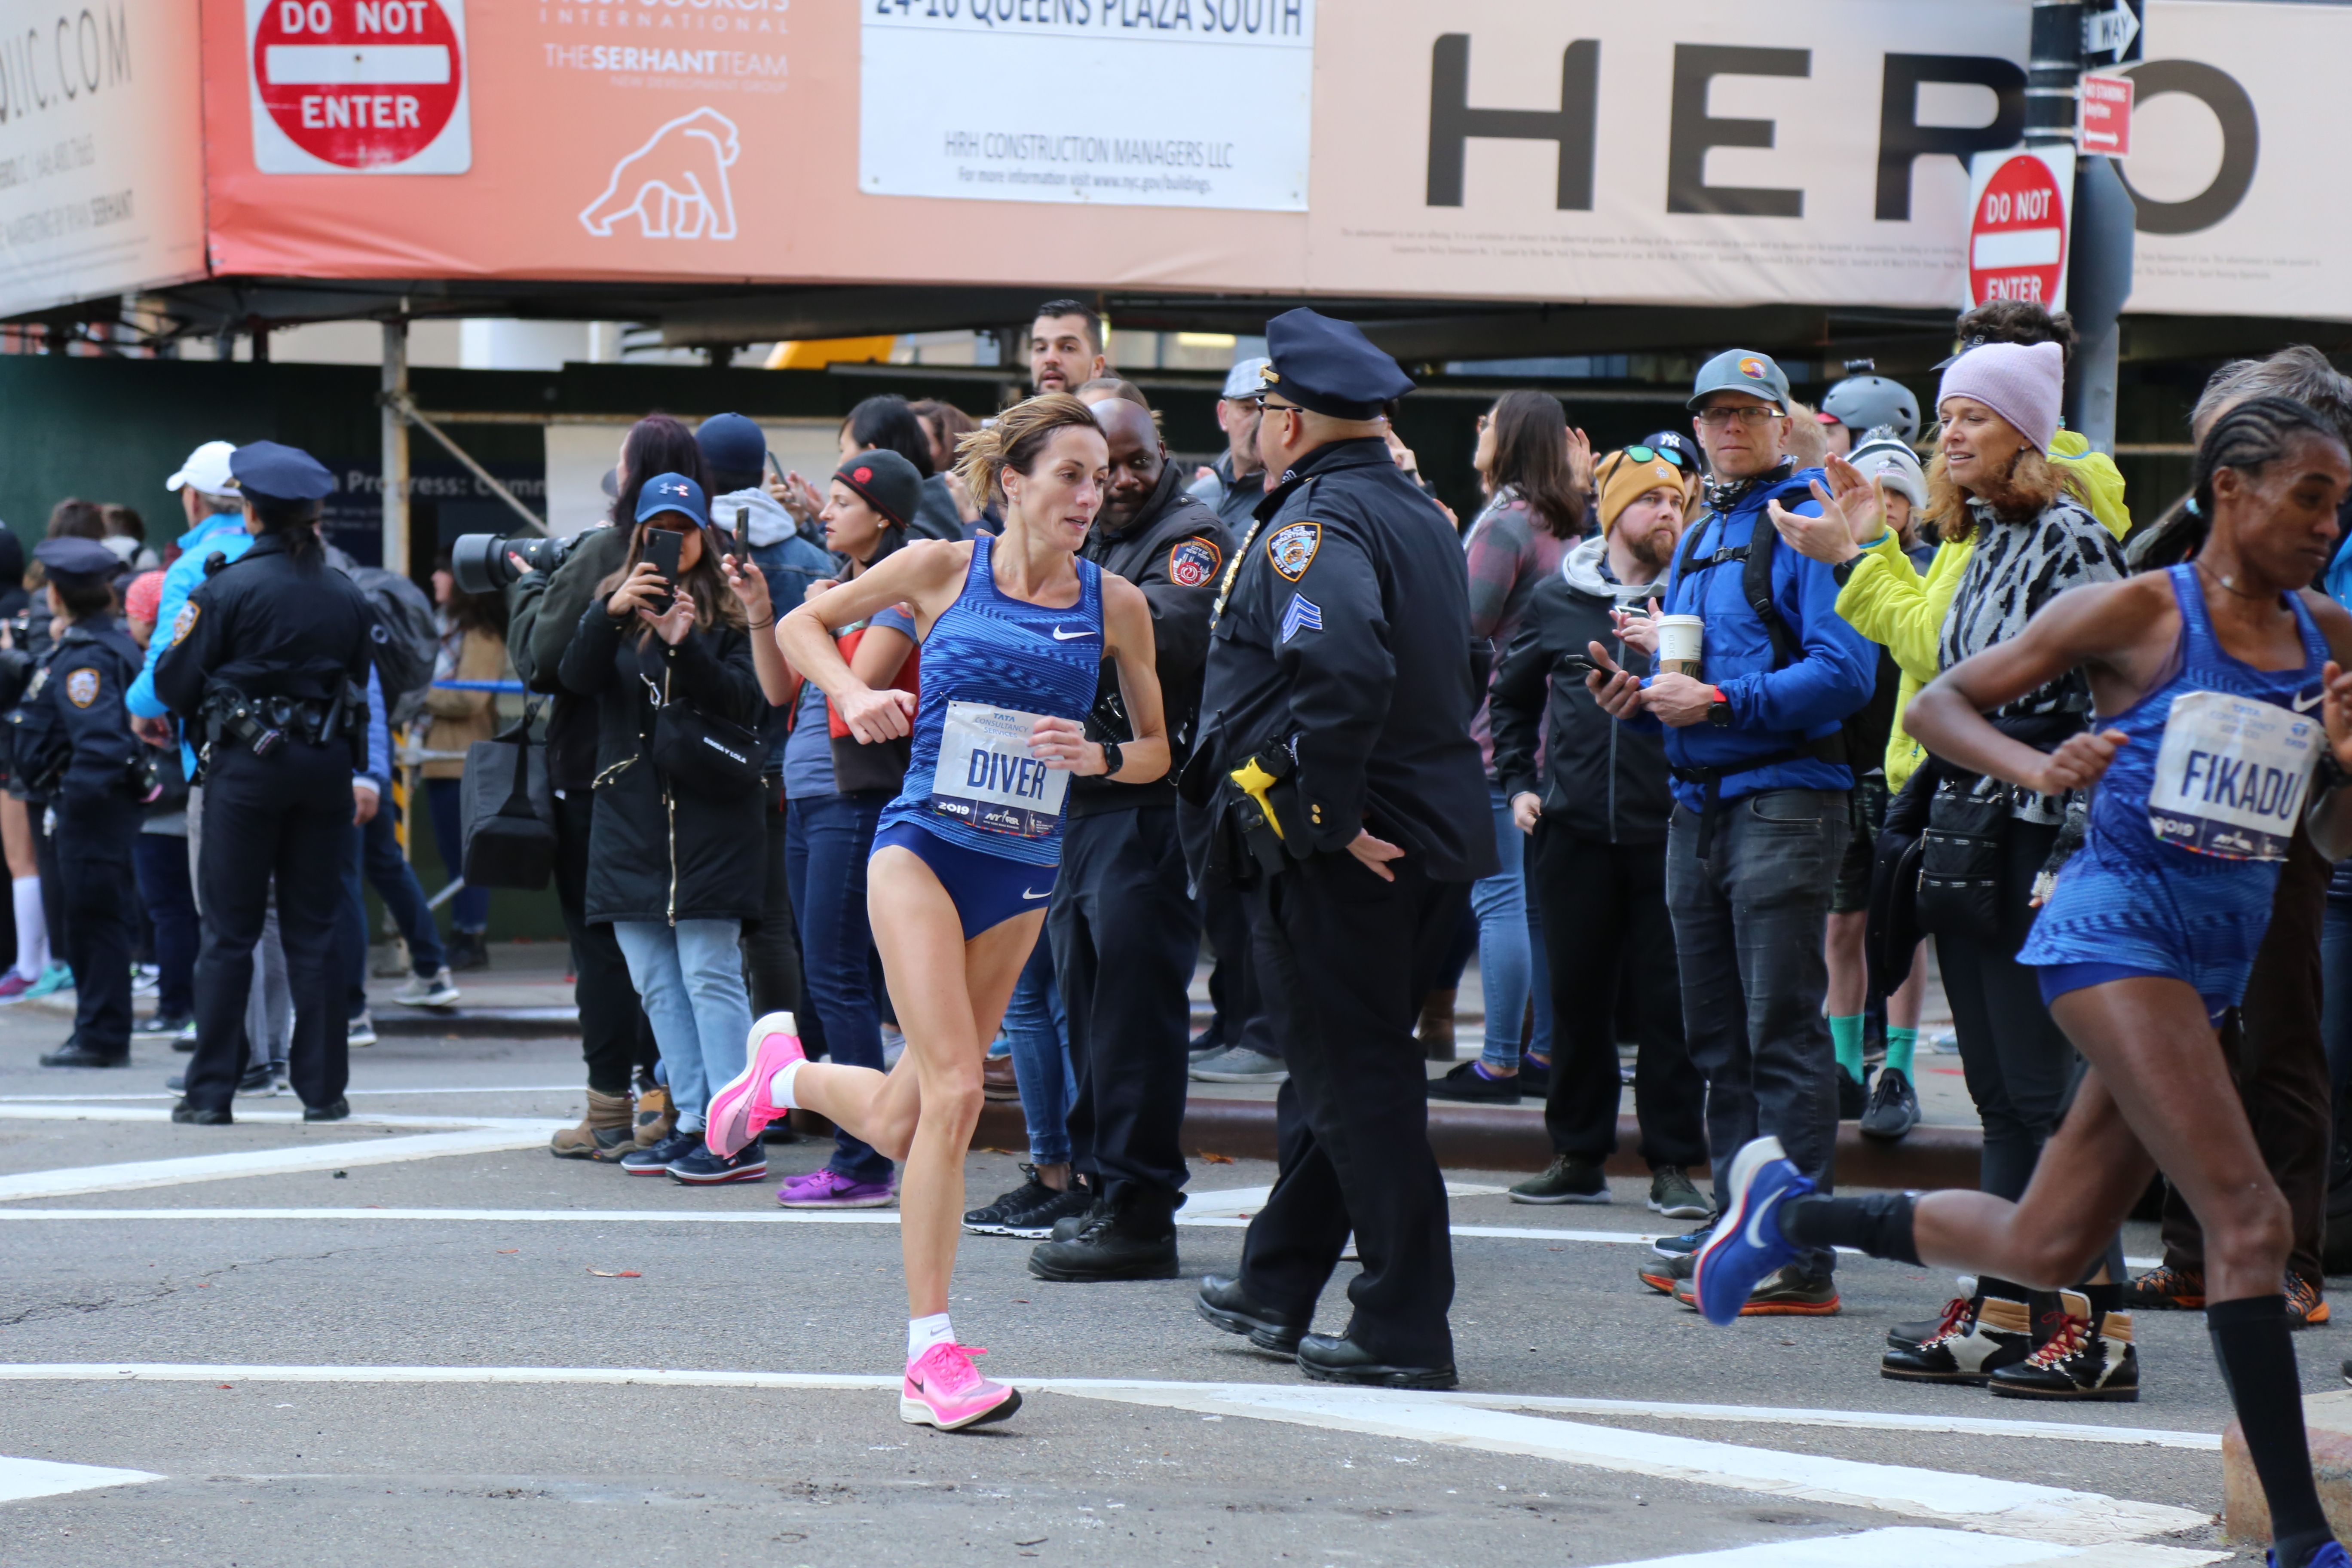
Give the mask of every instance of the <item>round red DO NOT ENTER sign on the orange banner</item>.
POLYGON ((463 0, 245 0, 254 167, 463 174, 463 0))

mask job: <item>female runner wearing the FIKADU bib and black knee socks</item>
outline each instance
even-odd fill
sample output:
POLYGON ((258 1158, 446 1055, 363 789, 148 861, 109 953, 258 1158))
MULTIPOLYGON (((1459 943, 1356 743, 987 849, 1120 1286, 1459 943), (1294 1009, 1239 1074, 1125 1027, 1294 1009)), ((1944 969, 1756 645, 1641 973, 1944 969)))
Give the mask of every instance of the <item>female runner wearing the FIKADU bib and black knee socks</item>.
MULTIPOLYGON (((2345 1568, 2312 1486, 2286 1326, 2288 1211, 2253 1143, 2213 1020, 2246 992, 2298 823, 2352 851, 2352 616, 2310 592, 2352 491, 2340 433, 2256 397, 2197 449, 2211 531, 2187 567, 2058 595, 2020 637, 1947 670, 1905 729, 1938 757, 2049 795, 2098 792, 2084 849, 2018 954, 2089 1072, 2016 1204, 1983 1192, 1818 1197, 1757 1140, 1731 1166, 1700 1253, 1700 1307, 1729 1321, 1740 1284, 1790 1246, 1985 1269, 2042 1288, 2082 1279, 2161 1171, 2204 1227, 2206 1328, 2270 1500, 2277 1568, 2345 1568), (2084 670, 2098 715, 2056 752, 1985 712, 2084 670), (1736 1293, 1736 1295, 1733 1295, 1736 1293)), ((2129 1328, 2070 1307, 2053 1396, 2107 1399, 2129 1328)), ((2042 1354, 2042 1352, 2037 1352, 2042 1354)))

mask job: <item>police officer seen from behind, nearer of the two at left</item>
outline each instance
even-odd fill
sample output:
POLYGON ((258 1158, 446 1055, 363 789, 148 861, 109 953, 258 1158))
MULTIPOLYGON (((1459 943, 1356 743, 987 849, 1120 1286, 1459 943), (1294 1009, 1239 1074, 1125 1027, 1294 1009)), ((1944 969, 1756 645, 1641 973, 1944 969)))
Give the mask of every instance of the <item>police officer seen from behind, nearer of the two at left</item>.
POLYGON ((278 879, 294 992, 289 1074, 303 1121, 350 1114, 336 917, 350 773, 367 743, 367 670, 379 637, 367 599, 327 564, 320 501, 334 475, 278 442, 228 461, 256 538, 212 567, 179 611, 155 693, 202 738, 205 839, 195 957, 195 1058, 174 1121, 226 1124, 245 1063, 254 943, 278 879))

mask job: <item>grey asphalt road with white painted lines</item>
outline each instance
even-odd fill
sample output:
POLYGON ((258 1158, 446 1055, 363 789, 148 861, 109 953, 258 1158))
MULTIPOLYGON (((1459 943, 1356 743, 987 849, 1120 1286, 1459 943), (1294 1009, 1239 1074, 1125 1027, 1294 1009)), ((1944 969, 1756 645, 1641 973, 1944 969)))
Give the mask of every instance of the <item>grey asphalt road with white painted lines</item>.
MULTIPOLYGON (((1639 1185, 1465 1192, 1456 1227, 1538 1234, 1458 1234, 1463 1394, 1430 1399, 1310 1385, 1202 1324, 1188 1281, 1049 1286, 1028 1244, 967 1239, 957 1338, 1030 1394, 943 1436, 896 1418, 894 1218, 774 1206, 830 1145, 699 1192, 555 1161, 574 1044, 393 1037, 358 1053, 348 1124, 263 1119, 282 1098, 183 1128, 160 1079, 186 1058, 33 1067, 56 1034, 0 1011, 9 1566, 2232 1561, 2197 1316, 2140 1319, 2131 1406, 1896 1385, 1884 1326, 1947 1276, 1846 1260, 1842 1316, 1715 1331, 1611 1239, 1668 1229, 1639 1185)), ((974 1201, 1016 1180, 971 1157, 974 1201)), ((1268 1180, 1202 1161, 1195 1215, 1268 1180)), ((1188 1225, 1185 1269, 1240 1241, 1188 1225)), ((2338 1338, 2303 1338, 2312 1392, 2340 1387, 2338 1338)))

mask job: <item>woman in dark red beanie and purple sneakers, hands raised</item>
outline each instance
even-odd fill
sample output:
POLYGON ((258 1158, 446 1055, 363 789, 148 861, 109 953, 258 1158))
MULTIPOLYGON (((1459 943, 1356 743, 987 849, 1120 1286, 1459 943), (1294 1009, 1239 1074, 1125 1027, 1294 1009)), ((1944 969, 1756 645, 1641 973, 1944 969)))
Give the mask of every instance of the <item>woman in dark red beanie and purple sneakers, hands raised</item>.
MULTIPOLYGON (((849 562, 856 583, 906 545, 906 520, 915 510, 922 480, 896 451, 861 451, 844 458, 828 484, 826 548, 849 562)), ((858 743, 826 703, 826 689, 802 679, 786 663, 769 628, 776 607, 767 581, 727 562, 727 581, 750 618, 753 661, 760 691, 771 708, 793 710, 783 743, 786 879, 793 889, 793 922, 800 929, 807 1018, 802 1039, 844 1067, 882 1067, 880 999, 873 985, 875 938, 866 924, 866 858, 875 823, 906 778, 906 741, 858 743)), ((809 585, 809 595, 833 588, 809 585)), ((851 675, 875 691, 915 682, 915 618, 903 604, 833 632, 851 675)), ((882 1208, 891 1201, 889 1154, 849 1128, 833 1128, 833 1159, 776 1190, 786 1208, 882 1208)))

